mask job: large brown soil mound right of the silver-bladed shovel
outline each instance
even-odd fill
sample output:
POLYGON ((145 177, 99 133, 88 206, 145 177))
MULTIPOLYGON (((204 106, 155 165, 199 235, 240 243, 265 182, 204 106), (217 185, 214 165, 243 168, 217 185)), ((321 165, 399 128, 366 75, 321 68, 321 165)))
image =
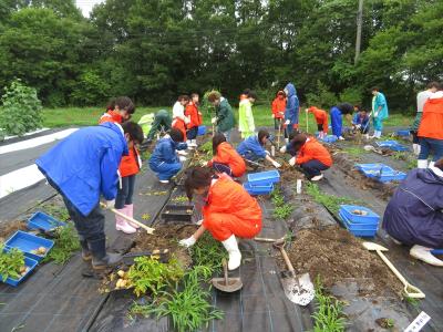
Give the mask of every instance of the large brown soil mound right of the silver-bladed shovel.
MULTIPOLYGON (((399 280, 377 253, 369 252, 361 242, 339 226, 330 226, 321 230, 300 230, 287 251, 297 273, 309 272, 312 280, 319 276, 327 288, 352 278, 363 294, 368 290, 372 294, 383 294, 388 290, 400 294, 399 280)), ((279 266, 284 264, 280 259, 279 266)))

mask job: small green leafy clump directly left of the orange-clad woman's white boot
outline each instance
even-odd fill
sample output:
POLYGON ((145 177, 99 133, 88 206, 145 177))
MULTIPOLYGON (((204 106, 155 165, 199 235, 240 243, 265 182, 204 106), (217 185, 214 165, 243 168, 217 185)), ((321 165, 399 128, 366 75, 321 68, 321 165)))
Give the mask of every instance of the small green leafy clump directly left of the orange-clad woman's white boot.
POLYGON ((209 268, 213 272, 222 269, 222 260, 227 257, 223 245, 215 240, 210 234, 205 232, 198 241, 190 247, 194 264, 209 268))

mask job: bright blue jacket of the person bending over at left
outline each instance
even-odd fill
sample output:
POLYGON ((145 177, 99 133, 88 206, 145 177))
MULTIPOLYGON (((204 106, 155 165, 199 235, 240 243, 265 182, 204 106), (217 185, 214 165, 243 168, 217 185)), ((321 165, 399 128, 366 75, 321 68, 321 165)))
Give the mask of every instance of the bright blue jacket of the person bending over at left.
POLYGON ((87 216, 99 204, 117 194, 119 165, 127 155, 127 144, 120 125, 106 122, 69 135, 35 164, 73 206, 87 216))

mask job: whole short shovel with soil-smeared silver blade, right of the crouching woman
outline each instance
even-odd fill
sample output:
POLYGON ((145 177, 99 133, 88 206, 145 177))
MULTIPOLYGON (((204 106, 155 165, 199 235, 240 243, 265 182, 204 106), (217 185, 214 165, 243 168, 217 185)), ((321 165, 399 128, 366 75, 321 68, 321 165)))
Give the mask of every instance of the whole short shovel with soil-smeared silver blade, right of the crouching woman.
POLYGON ((309 278, 309 273, 303 273, 300 277, 296 276, 296 270, 293 269, 284 246, 285 241, 277 241, 274 243, 274 247, 280 250, 285 263, 289 269, 289 271, 285 276, 281 274, 280 278, 285 294, 289 301, 305 307, 312 301, 316 294, 313 284, 309 278))

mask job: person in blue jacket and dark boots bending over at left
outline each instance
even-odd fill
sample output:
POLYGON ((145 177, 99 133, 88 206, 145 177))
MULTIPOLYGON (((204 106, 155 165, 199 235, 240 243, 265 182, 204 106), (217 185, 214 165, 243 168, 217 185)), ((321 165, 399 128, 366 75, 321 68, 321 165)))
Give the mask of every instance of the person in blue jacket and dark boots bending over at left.
POLYGON ((142 139, 143 131, 134 123, 104 123, 76 131, 37 162, 40 172, 63 197, 75 224, 84 260, 94 269, 119 263, 121 255, 106 252, 104 215, 100 196, 114 207, 119 164, 127 155, 127 145, 142 139))

